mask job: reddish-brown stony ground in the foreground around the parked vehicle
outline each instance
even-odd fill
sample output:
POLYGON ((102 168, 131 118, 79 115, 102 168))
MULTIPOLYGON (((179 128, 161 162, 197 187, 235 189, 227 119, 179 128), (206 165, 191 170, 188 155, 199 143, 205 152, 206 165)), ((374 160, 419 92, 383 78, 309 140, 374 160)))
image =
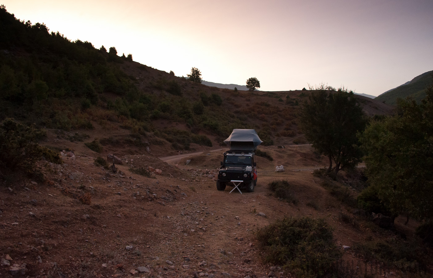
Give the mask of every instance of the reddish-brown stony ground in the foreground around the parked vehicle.
MULTIPOLYGON (((97 154, 79 150, 62 156, 62 165, 40 162, 45 184, 0 188, 0 276, 291 277, 263 263, 257 228, 284 216, 323 217, 342 250, 371 235, 368 225, 341 223, 339 213, 348 208, 311 170, 297 171, 325 165, 310 145, 263 150, 274 161, 258 158, 258 185, 242 194, 216 190, 220 152, 165 159, 171 164, 125 155, 116 173, 95 165, 97 154), (286 170, 276 173, 276 165, 286 170), (162 174, 132 171, 149 166, 162 174), (297 204, 272 196, 267 184, 277 179, 293 185, 297 204)), ((355 194, 350 181, 348 188, 355 194)), ((343 252, 343 259, 356 260, 350 248, 343 252)))

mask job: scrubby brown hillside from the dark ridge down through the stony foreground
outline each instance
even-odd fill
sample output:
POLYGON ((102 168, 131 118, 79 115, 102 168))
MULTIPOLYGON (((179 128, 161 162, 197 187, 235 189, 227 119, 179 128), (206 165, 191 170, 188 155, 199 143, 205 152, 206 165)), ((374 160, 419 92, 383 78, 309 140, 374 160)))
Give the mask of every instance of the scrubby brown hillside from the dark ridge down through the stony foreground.
MULTIPOLYGON (((39 144, 62 162, 42 158, 29 175, 1 168, 0 277, 296 277, 265 262, 256 237, 283 217, 325 220, 342 254, 338 277, 433 272, 431 250, 406 240, 419 223, 398 217, 385 230, 358 209, 363 165, 337 181, 315 171, 328 158, 298 129, 311 91, 192 83, 0 13, 0 120, 44 128, 39 144), (264 141, 252 193, 216 190, 233 128, 264 141), (114 170, 102 165, 109 154, 122 163, 114 170), (285 195, 270 190, 282 180, 285 195)), ((356 97, 368 116, 394 111, 356 97)))

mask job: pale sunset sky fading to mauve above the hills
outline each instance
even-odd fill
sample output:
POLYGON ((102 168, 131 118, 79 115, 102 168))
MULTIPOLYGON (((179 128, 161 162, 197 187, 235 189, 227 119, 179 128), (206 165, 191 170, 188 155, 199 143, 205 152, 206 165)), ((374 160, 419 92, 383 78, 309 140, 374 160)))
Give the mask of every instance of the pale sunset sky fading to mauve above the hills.
POLYGON ((0 0, 21 20, 162 71, 261 91, 377 96, 433 70, 433 0, 0 0))

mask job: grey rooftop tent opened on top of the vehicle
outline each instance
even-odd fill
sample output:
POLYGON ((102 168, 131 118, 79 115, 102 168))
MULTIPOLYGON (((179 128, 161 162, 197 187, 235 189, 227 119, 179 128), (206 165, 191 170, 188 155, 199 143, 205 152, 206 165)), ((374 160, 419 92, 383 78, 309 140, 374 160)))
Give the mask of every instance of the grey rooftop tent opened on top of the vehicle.
POLYGON ((231 150, 238 151, 254 151, 262 142, 255 129, 233 129, 229 138, 224 140, 231 150))

